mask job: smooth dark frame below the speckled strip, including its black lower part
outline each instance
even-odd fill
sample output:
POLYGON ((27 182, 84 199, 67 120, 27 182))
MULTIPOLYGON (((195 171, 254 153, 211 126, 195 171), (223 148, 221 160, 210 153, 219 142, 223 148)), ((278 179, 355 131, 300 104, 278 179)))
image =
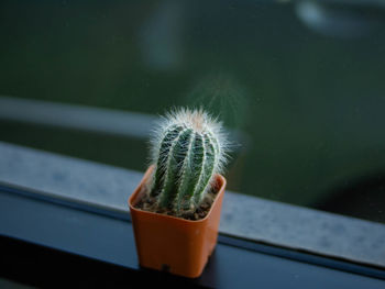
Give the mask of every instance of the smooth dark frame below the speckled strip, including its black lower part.
POLYGON ((180 278, 139 266, 128 214, 4 185, 0 207, 0 276, 22 284, 128 286, 139 281, 187 288, 256 284, 383 288, 385 284, 384 270, 223 234, 202 276, 180 278))

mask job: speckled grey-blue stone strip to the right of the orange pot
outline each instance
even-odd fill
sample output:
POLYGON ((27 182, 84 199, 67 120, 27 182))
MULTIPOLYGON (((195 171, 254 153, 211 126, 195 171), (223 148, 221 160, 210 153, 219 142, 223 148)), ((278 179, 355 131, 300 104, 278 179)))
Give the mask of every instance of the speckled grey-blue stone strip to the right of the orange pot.
POLYGON ((221 231, 385 266, 385 225, 239 193, 223 200, 221 231))

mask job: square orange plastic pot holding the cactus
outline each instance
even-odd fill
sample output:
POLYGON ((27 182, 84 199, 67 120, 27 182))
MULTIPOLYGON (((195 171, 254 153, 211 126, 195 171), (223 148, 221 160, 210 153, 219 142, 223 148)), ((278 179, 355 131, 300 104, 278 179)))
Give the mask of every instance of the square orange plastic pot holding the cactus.
POLYGON ((154 167, 145 173, 129 199, 140 265, 175 275, 199 277, 217 245, 226 179, 217 175, 218 194, 209 213, 198 221, 134 208, 146 190, 154 167))

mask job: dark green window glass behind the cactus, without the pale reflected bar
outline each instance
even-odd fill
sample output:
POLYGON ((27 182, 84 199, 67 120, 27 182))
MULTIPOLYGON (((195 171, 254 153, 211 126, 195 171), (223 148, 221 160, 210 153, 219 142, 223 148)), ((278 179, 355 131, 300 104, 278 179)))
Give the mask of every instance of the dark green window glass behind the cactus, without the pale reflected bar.
MULTIPOLYGON (((0 42, 0 98, 145 114, 204 105, 237 144, 230 189, 385 222, 381 1, 4 0, 0 42)), ((7 118, 0 131, 147 165, 143 138, 7 118)))

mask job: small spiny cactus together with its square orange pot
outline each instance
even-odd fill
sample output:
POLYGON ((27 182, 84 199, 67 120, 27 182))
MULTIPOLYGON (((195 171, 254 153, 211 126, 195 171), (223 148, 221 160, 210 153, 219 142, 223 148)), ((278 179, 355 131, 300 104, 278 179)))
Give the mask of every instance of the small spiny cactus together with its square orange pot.
POLYGON ((195 278, 217 244, 226 179, 221 123, 173 111, 152 140, 152 165, 129 199, 141 266, 195 278))

